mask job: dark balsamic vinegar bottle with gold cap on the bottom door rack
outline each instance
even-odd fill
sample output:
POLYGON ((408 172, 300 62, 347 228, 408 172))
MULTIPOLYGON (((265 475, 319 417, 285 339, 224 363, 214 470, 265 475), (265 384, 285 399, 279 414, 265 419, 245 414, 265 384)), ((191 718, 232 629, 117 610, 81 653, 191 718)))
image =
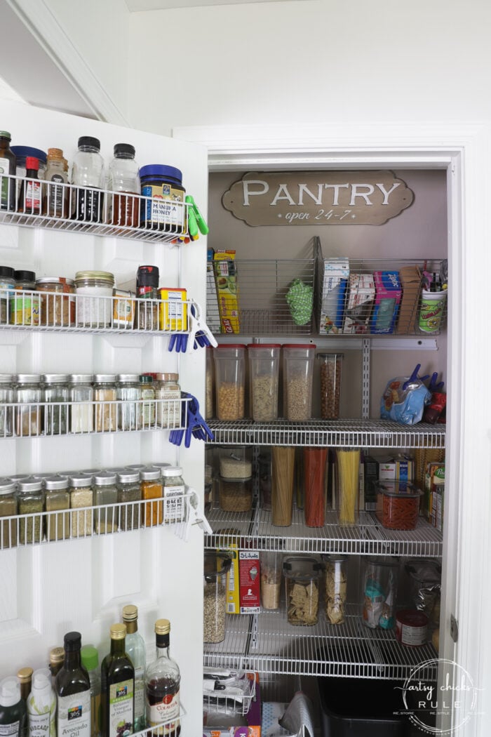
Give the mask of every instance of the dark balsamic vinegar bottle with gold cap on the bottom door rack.
POLYGON ((110 653, 102 660, 102 737, 133 734, 135 720, 135 668, 125 652, 125 624, 112 624, 110 653))

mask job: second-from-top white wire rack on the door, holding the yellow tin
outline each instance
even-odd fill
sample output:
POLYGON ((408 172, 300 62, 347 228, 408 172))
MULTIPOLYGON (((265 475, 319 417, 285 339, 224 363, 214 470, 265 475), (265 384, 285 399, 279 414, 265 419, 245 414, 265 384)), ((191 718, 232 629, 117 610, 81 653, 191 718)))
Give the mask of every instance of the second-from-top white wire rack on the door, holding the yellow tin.
POLYGON ((187 334, 191 304, 185 299, 137 299, 51 291, 0 289, 0 328, 43 332, 187 334))

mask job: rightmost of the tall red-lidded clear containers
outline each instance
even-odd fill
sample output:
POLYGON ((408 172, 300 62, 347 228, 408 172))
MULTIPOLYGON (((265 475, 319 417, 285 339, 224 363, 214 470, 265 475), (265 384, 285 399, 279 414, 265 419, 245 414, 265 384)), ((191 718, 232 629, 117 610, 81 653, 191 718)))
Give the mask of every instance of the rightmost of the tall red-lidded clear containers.
POLYGON ((314 343, 283 345, 283 415, 286 419, 311 418, 315 351, 314 343))

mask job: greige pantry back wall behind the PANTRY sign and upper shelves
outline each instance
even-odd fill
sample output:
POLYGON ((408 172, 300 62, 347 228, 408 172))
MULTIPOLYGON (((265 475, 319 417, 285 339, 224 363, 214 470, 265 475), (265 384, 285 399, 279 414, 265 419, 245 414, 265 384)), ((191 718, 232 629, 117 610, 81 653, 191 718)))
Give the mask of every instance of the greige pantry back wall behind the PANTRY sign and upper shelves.
MULTIPOLYGON (((446 173, 440 170, 398 170, 414 192, 414 202, 397 217, 382 226, 258 226, 251 227, 238 220, 222 205, 222 196, 243 172, 212 172, 209 176, 208 245, 215 249, 233 248, 238 258, 299 259, 311 257, 311 238, 319 236, 325 256, 350 256, 353 259, 411 258, 443 259, 447 255, 446 173)), ((239 273, 239 293, 241 289, 239 273)), ((241 338, 242 340, 242 338, 241 338)), ((262 340, 265 340, 262 338, 262 340)), ((287 343, 288 336, 275 340, 287 343)), ((311 340, 329 349, 329 339, 312 336, 311 340)), ((349 345, 349 343, 347 343, 349 345)), ((332 343, 331 343, 332 345, 332 343)), ((389 379, 411 374, 417 363, 423 374, 439 373, 447 381, 447 336, 437 336, 437 350, 374 350, 370 360, 370 417, 380 416, 380 399, 389 379)), ((361 416, 361 352, 343 348, 345 354, 341 414, 361 416)), ((318 372, 317 372, 318 373, 318 372)), ((319 377, 314 382, 315 416, 319 416, 319 377), (317 399, 317 401, 315 401, 317 399)))

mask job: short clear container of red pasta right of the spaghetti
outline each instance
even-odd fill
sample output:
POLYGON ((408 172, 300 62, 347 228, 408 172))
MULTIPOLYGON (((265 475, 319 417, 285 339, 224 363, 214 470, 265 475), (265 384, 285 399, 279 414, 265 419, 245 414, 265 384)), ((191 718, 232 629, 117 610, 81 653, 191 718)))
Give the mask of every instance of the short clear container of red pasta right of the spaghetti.
POLYGON ((420 514, 421 489, 409 481, 374 481, 375 514, 388 530, 414 530, 420 514))

